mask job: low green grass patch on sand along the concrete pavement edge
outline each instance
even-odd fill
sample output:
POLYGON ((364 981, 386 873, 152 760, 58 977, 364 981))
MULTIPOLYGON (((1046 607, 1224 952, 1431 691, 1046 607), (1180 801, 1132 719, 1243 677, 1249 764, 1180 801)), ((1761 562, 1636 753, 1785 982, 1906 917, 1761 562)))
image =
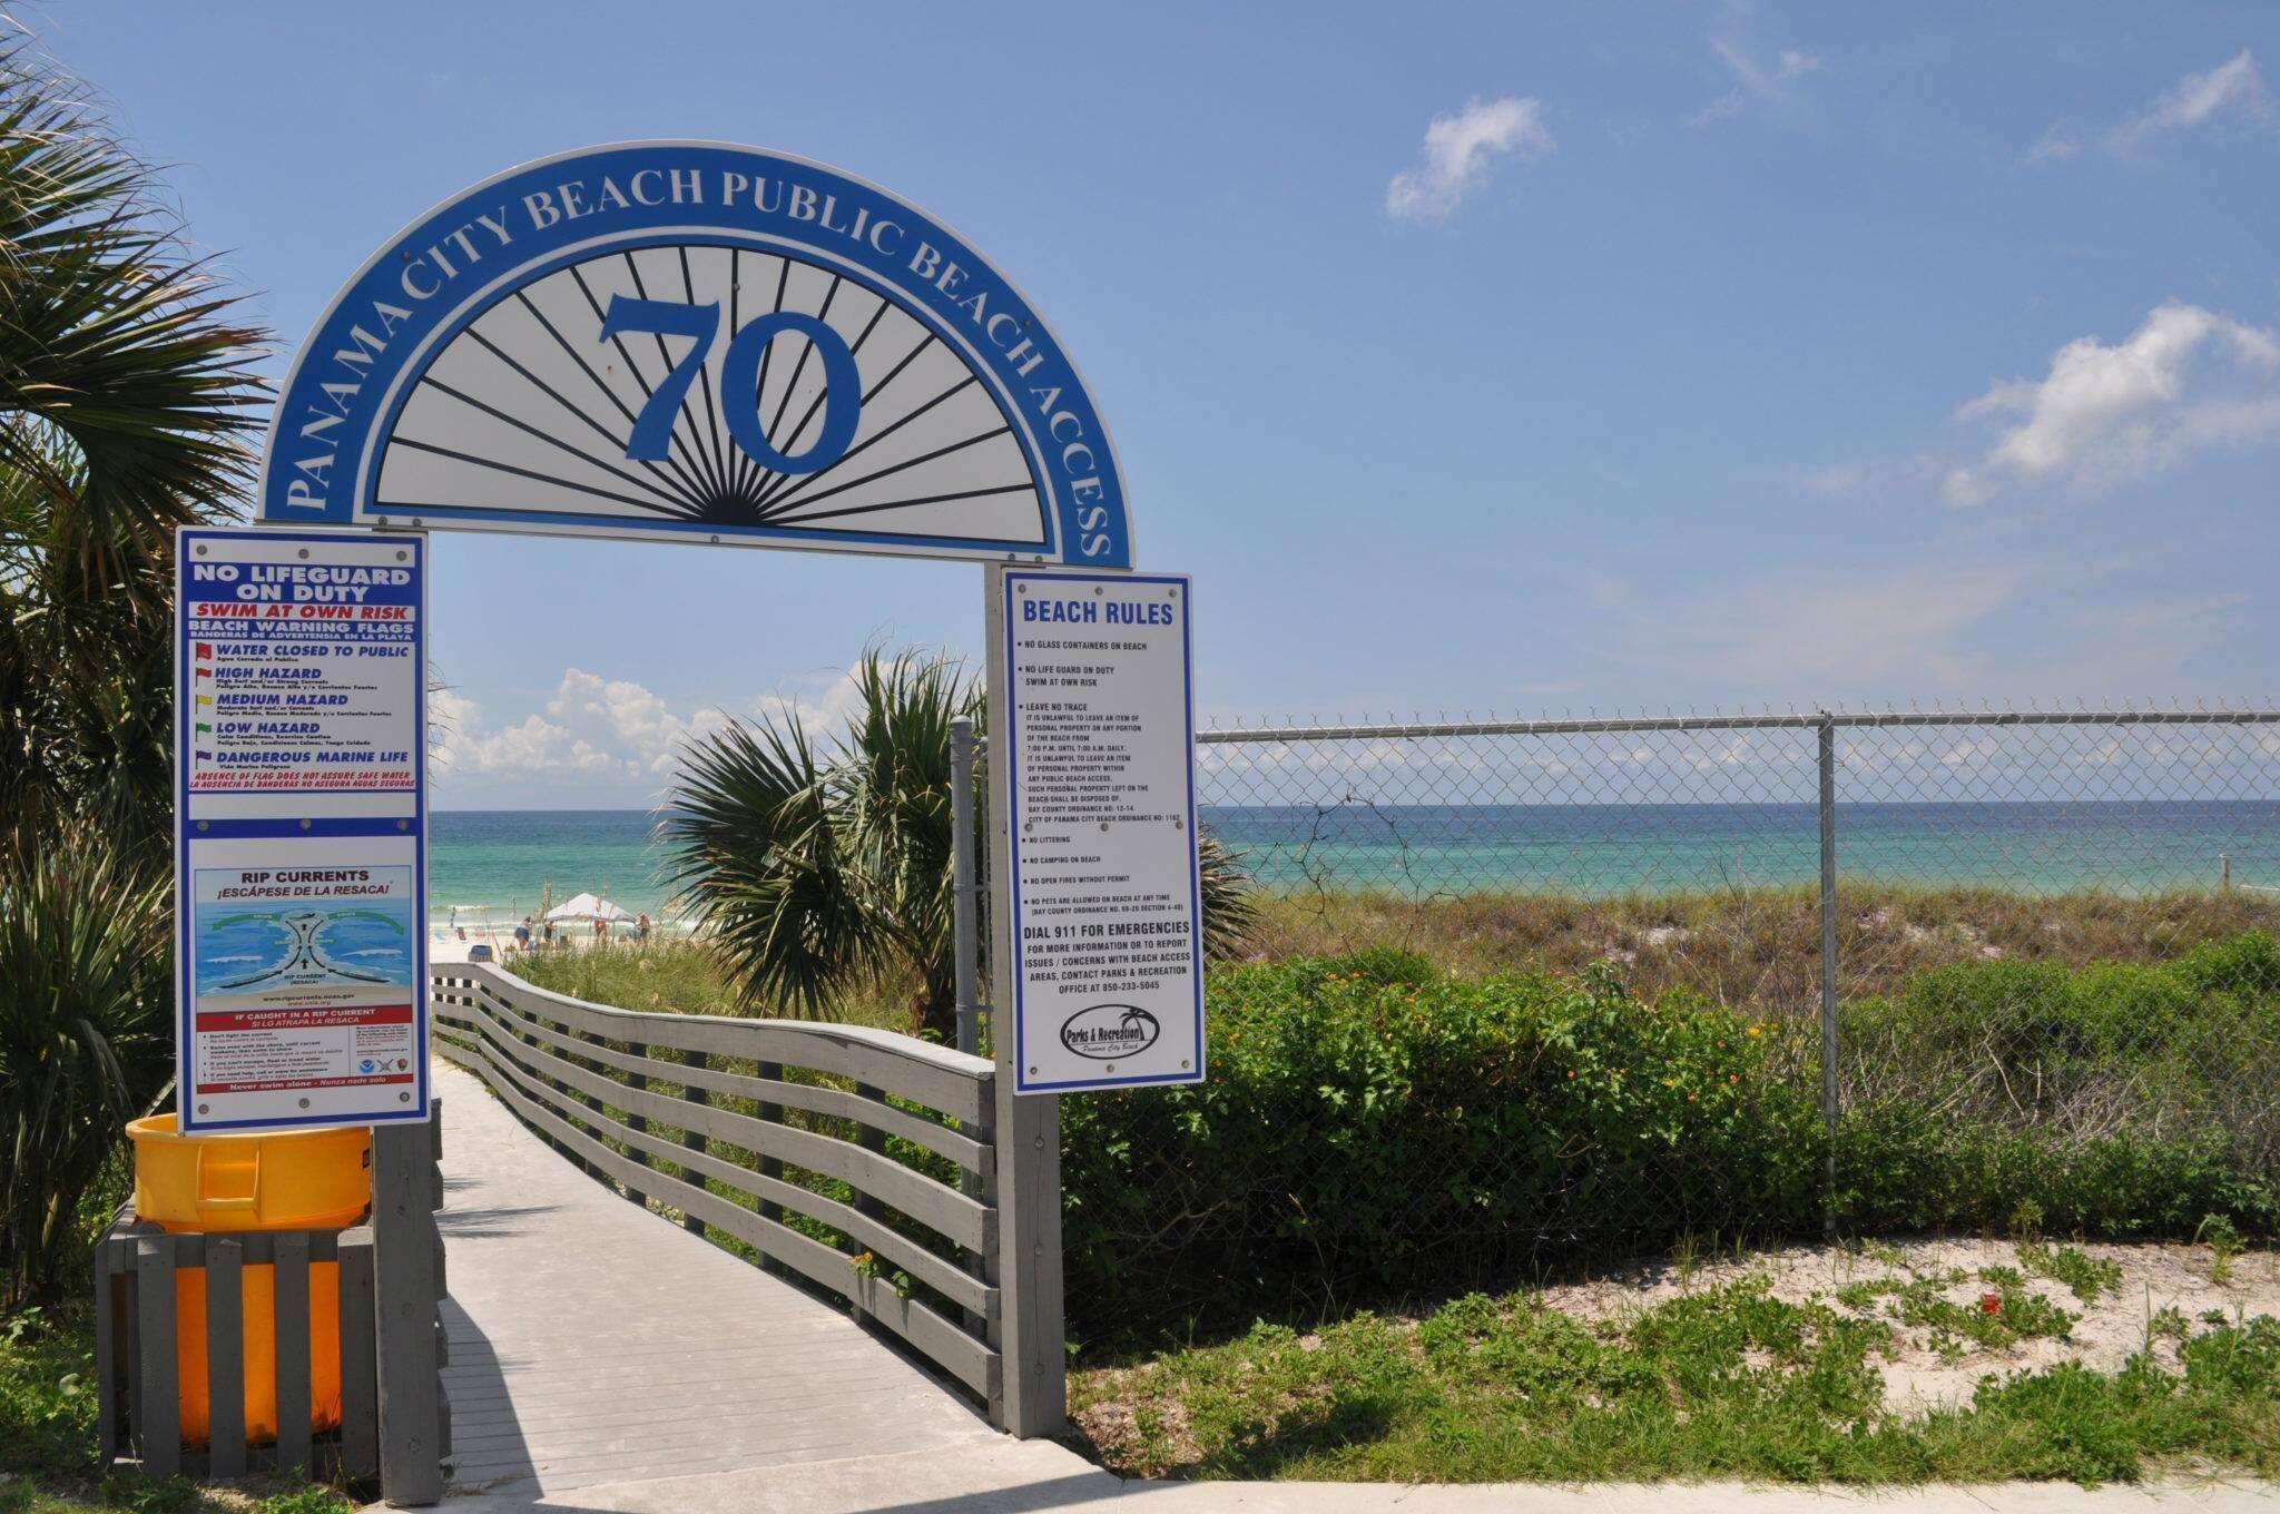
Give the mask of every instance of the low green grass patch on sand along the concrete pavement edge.
MULTIPOLYGON (((2009 1302, 2004 1304, 2009 1309, 2009 1302)), ((2063 1332, 2063 1316, 2020 1334, 2063 1332)), ((1993 1316, 1990 1316, 1993 1318, 1993 1316)), ((2280 1320, 2200 1320, 2118 1373, 1990 1373, 1965 1405, 1888 1411, 1906 1313, 1774 1297, 1765 1279, 1587 1320, 1466 1295, 1081 1373, 1072 1409, 1129 1475, 1373 1482, 2130 1482, 2280 1473, 2280 1320)))

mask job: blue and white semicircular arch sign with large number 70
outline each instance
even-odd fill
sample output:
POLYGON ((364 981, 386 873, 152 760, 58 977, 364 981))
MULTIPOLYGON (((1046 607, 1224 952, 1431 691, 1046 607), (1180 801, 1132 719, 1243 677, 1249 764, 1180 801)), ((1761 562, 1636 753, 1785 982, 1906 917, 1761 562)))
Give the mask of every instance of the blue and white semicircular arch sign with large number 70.
POLYGON ((511 169, 374 253, 294 360, 260 518, 1131 565, 1108 426, 987 258, 700 141, 511 169))

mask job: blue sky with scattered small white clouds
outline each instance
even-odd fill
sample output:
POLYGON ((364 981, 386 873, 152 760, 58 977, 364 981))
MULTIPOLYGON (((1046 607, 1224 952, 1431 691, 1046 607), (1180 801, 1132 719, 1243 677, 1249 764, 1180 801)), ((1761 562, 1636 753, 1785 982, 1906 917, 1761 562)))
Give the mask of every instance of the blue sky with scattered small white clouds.
MULTIPOLYGON (((508 164, 716 137, 987 251, 1083 363, 1206 716, 2262 698, 2271 5, 82 0, 290 349, 508 164)), ((967 565, 438 536, 445 805, 978 643, 967 565)))

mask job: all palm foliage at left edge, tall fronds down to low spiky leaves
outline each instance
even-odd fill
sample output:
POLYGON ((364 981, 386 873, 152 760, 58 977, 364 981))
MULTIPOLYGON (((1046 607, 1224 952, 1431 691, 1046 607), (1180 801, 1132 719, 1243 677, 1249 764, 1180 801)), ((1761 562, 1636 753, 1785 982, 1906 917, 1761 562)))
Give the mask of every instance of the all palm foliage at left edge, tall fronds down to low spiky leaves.
POLYGON ((73 1275, 173 1072, 173 531, 253 474, 258 342, 87 93, 0 39, 0 1307, 73 1275))

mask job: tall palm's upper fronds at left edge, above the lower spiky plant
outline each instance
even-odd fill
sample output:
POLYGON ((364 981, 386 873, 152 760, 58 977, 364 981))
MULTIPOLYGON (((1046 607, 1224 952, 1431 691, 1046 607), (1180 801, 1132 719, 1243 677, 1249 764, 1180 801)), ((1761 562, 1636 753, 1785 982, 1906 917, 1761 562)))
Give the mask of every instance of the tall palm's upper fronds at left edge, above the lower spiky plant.
MULTIPOLYGON (((5 18, 0 18, 5 25, 5 18)), ((253 477, 262 333, 160 185, 27 41, 0 46, 0 816, 166 832, 173 529, 253 477)))

